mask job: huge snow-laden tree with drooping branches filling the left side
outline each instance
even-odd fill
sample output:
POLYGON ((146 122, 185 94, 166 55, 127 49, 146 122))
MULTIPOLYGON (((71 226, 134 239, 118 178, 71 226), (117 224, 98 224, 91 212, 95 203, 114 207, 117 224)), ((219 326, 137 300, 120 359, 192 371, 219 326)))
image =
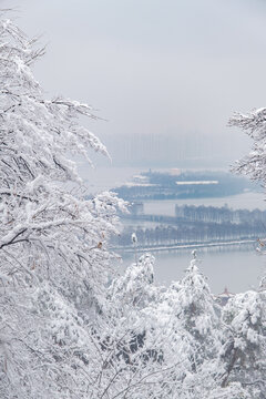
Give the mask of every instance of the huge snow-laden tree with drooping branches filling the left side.
POLYGON ((84 200, 71 156, 108 153, 80 124, 95 117, 89 105, 44 98, 34 44, 1 16, 0 396, 82 398, 93 386, 83 370, 93 357, 88 326, 105 300, 122 202, 111 193, 84 200))

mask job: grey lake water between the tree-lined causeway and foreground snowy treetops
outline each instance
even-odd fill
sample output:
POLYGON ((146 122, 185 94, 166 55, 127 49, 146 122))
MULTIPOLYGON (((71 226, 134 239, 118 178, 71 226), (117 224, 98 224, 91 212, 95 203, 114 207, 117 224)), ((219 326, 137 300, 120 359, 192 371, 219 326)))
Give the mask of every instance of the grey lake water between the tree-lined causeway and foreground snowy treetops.
MULTIPOLYGON (((214 294, 219 294, 225 287, 232 293, 241 293, 257 288, 263 274, 266 273, 266 255, 259 255, 254 247, 248 249, 208 249, 197 250, 200 269, 208 278, 214 294)), ((155 256, 155 280, 168 285, 184 276, 184 270, 192 259, 191 250, 162 252, 155 256)), ((133 254, 122 254, 123 266, 134 262, 133 254)))

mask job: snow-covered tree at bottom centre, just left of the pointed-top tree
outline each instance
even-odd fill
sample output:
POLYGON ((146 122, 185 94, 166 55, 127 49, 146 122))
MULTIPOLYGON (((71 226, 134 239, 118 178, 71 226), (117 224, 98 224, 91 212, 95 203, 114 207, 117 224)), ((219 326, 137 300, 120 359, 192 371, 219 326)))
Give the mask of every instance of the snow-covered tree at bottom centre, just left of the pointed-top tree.
POLYGON ((104 334, 96 341, 103 357, 102 362, 95 362, 101 376, 100 397, 103 392, 106 398, 167 397, 163 377, 168 372, 168 364, 163 361, 163 339, 154 318, 146 313, 160 297, 153 264, 151 254, 142 255, 109 288, 104 310, 108 317, 102 319, 104 334))

